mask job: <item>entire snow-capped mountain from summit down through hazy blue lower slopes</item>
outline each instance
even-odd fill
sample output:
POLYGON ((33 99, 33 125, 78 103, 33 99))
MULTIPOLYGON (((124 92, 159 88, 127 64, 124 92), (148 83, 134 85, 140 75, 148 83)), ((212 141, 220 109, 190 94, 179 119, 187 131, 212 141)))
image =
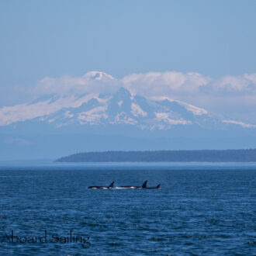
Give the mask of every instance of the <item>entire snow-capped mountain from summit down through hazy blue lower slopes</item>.
MULTIPOLYGON (((85 79, 112 78, 91 73, 85 79)), ((122 87, 107 94, 51 94, 0 109, 0 160, 85 150, 254 148, 254 134, 253 124, 122 87)))

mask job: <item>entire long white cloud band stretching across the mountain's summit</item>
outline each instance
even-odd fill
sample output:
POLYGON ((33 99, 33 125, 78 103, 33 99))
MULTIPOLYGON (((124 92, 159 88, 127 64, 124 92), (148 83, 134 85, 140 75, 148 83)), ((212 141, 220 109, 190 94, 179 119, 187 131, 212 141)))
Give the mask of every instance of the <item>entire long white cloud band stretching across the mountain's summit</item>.
MULTIPOLYGON (((43 78, 33 92, 37 95, 57 93, 74 95, 79 93, 112 93, 125 87, 133 94, 146 97, 167 97, 171 99, 194 99, 204 102, 206 97, 219 100, 220 97, 247 99, 256 95, 256 73, 241 76, 227 75, 213 79, 199 73, 176 71, 130 74, 117 80, 104 72, 92 71, 81 77, 64 75, 61 78, 43 78)), ((195 104, 196 105, 196 104, 195 104)))

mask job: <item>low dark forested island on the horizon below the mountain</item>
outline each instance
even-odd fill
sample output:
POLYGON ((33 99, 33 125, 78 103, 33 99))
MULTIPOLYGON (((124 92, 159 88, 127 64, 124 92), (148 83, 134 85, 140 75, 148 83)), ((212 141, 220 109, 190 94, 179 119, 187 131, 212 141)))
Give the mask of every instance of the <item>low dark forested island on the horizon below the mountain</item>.
POLYGON ((85 152, 57 162, 256 162, 256 149, 85 152))

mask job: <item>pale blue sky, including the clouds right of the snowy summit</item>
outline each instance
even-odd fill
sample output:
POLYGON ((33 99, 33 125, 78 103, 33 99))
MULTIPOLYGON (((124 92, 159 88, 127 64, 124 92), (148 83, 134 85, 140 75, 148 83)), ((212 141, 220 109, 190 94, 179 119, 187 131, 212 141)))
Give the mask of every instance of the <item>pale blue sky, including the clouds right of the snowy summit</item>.
POLYGON ((0 107, 33 98, 47 77, 104 71, 136 92, 253 119, 255 11, 250 0, 2 0, 0 107))

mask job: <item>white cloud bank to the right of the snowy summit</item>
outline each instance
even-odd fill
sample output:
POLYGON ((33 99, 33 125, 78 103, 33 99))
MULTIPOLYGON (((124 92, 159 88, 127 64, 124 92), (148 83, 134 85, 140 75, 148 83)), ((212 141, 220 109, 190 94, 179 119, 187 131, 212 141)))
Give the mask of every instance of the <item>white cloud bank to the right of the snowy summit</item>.
POLYGON ((224 76, 213 79, 198 73, 149 72, 146 74, 130 74, 122 80, 126 88, 137 94, 147 96, 168 96, 188 94, 213 95, 226 93, 256 94, 256 74, 243 76, 224 76), (226 93, 224 93, 226 92, 226 93))

